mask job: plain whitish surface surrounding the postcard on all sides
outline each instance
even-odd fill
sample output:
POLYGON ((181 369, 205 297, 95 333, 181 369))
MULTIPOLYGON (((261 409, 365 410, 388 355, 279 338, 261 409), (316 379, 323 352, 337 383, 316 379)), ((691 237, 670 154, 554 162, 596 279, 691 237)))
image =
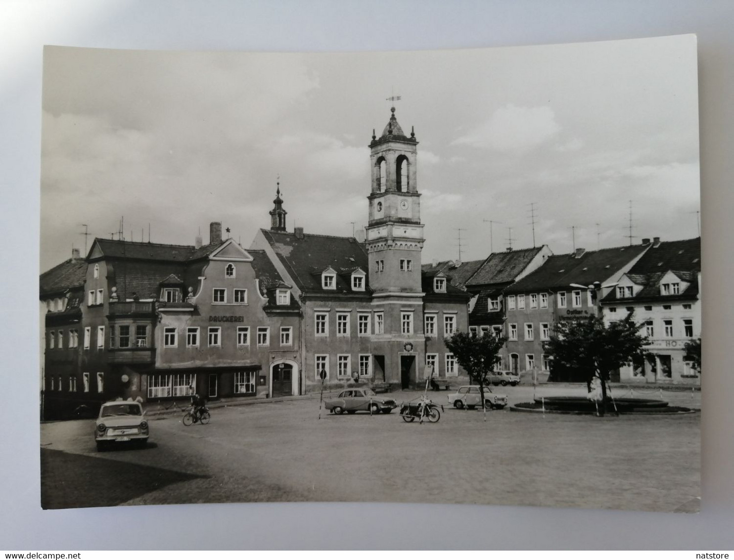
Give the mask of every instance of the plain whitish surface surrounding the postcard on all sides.
MULTIPOLYGON (((734 548, 734 3, 731 1, 4 1, 0 4, 0 546, 734 548), (705 388, 702 513, 371 503, 43 512, 37 433, 40 84, 44 44, 364 51, 699 37, 705 388), (111 528, 121 529, 112 531, 111 528)), ((324 457, 327 460, 327 457, 324 457)), ((542 457, 538 458, 542 461, 542 457)), ((624 468, 624 465, 620 465, 624 468)), ((59 481, 61 484, 62 481, 59 481)))

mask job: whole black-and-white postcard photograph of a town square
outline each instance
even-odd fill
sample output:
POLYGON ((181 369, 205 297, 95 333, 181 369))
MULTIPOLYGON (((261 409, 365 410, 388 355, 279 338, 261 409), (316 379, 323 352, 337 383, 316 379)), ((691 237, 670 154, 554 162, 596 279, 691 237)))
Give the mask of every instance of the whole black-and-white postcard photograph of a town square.
POLYGON ((699 512, 698 91, 694 34, 46 46, 41 506, 699 512))

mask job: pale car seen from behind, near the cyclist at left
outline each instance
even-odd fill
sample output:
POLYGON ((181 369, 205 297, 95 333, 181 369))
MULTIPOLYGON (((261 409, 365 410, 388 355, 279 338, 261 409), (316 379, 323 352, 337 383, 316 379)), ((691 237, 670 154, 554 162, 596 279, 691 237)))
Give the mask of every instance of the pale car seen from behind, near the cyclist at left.
POLYGON ((110 401, 102 405, 95 421, 94 439, 97 451, 116 442, 148 443, 148 421, 142 405, 134 401, 110 401))

